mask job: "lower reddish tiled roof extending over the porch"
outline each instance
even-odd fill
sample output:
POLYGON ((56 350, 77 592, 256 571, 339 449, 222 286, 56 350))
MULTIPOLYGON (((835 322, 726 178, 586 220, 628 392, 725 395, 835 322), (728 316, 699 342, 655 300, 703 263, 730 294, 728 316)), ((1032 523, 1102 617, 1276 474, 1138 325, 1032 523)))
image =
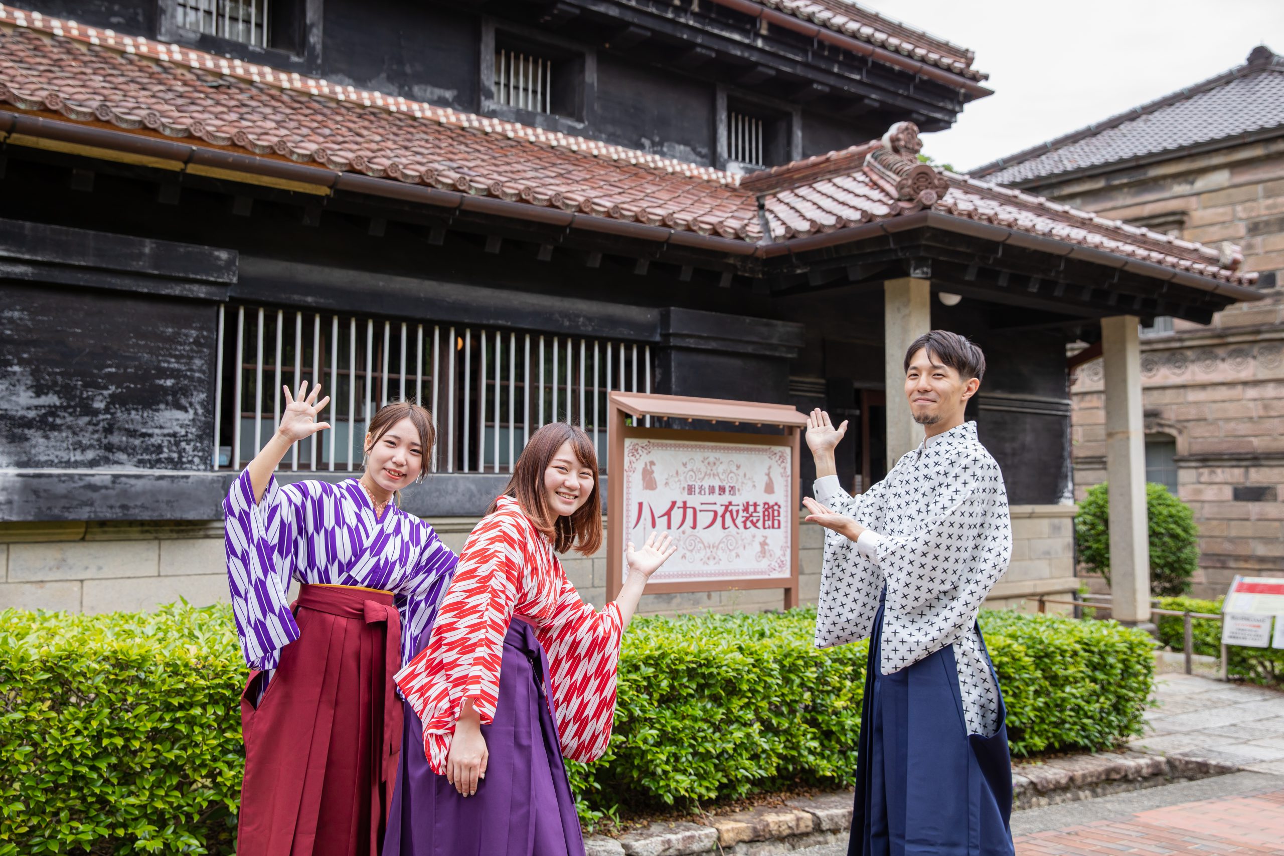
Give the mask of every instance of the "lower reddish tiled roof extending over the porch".
POLYGON ((918 163, 909 122, 882 140, 737 177, 0 5, 0 116, 6 109, 756 245, 930 209, 1228 282, 1256 277, 1234 270, 1229 245, 1170 239, 918 163))

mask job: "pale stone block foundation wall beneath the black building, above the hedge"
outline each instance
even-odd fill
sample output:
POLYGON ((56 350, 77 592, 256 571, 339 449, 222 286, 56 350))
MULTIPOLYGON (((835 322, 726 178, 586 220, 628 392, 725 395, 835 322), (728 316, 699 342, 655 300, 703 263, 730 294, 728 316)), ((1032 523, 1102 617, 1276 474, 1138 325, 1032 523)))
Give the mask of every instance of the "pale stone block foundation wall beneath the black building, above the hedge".
MULTIPOLYGON (((1039 594, 1076 590, 1070 520, 1073 506, 1013 506, 1013 556, 989 606, 1034 608, 1039 594)), ((475 518, 429 520, 458 552, 475 518)), ((800 599, 815 603, 824 542, 819 526, 800 527, 800 599)), ((605 539, 603 539, 605 540, 605 539)), ((562 565, 586 601, 606 603, 605 547, 562 565)), ((196 606, 227 599, 222 521, 0 524, 0 610, 113 612, 152 610, 180 597, 196 606)), ((783 606, 781 589, 648 594, 643 613, 756 612, 783 606)))

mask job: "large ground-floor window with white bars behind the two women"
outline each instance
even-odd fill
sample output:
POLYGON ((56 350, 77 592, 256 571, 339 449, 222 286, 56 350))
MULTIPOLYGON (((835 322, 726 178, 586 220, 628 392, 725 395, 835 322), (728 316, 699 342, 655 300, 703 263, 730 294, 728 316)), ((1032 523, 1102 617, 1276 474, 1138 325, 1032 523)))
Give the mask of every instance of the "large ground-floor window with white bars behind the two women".
MULTIPOLYGON (((295 443, 289 470, 358 470, 389 400, 437 424, 431 471, 512 472, 530 434, 579 425, 606 462, 606 397, 651 391, 646 343, 225 304, 218 309, 212 466, 240 470, 281 420, 281 386, 320 382, 327 431, 295 443)), ((650 420, 648 420, 650 422, 650 420)))

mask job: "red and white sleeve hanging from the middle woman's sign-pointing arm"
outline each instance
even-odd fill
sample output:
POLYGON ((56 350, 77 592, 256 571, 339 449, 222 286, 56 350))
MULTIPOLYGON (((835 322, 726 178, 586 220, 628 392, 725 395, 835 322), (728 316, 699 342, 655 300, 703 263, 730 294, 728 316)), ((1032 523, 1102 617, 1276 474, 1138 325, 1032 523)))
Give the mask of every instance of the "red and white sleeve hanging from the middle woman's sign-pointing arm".
POLYGON ((623 635, 620 608, 609 603, 598 612, 562 574, 553 613, 535 638, 548 655, 553 714, 568 758, 596 761, 606 752, 623 635))

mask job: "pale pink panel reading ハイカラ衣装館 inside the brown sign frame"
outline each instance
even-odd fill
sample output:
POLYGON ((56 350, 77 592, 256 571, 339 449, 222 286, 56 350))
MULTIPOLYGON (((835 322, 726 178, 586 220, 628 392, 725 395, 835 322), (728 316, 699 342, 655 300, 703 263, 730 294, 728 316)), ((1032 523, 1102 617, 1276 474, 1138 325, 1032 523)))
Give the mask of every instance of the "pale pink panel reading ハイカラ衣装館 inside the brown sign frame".
POLYGON ((790 447, 625 438, 621 475, 625 540, 678 544, 656 583, 790 578, 790 447))

